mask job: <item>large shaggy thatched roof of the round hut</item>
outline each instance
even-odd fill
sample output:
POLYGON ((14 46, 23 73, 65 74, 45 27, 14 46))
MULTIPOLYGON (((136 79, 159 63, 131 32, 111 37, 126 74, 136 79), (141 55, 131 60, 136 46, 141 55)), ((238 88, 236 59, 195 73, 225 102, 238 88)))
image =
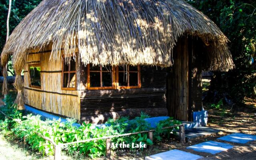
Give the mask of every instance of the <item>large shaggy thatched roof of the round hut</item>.
POLYGON ((52 59, 63 50, 78 52, 85 64, 171 66, 182 35, 212 42, 210 70, 233 68, 226 36, 184 0, 43 0, 12 32, 1 57, 13 54, 20 68, 30 50, 52 44, 52 59))

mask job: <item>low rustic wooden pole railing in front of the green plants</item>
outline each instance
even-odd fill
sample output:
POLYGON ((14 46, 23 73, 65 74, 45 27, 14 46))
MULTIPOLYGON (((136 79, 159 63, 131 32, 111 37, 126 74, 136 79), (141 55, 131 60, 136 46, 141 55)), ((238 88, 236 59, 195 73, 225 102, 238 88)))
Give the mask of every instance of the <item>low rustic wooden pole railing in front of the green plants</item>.
MULTIPOLYGON (((0 111, 1 112, 1 111, 0 111)), ((2 114, 4 114, 3 112, 1 112, 2 114)), ((7 116, 6 114, 4 114, 5 116, 7 116)), ((9 116, 7 116, 8 118, 11 118, 9 116)), ((14 120, 13 118, 11 118, 12 120, 14 120)), ((14 120, 16 121, 16 120, 14 120)), ((19 124, 21 124, 19 121, 16 121, 19 124)), ((174 126, 169 126, 169 127, 164 127, 162 128, 164 129, 168 129, 168 128, 174 128, 174 127, 178 127, 179 126, 179 132, 180 132, 180 142, 181 143, 185 143, 186 139, 185 139, 185 127, 184 124, 178 124, 178 125, 174 125, 174 126)), ((139 133, 147 133, 148 132, 148 137, 149 139, 153 142, 153 132, 155 132, 156 130, 146 130, 146 131, 141 131, 141 132, 134 132, 134 133, 126 133, 126 134, 119 134, 119 135, 114 135, 114 136, 106 136, 106 137, 100 137, 100 138, 91 138, 88 140, 80 140, 80 141, 76 141, 76 142, 69 142, 69 143, 63 143, 63 144, 56 144, 53 140, 51 140, 50 138, 44 137, 42 135, 40 135, 39 133, 36 133, 38 136, 42 137, 44 140, 49 141, 50 143, 52 143, 52 145, 54 146, 54 160, 61 160, 61 148, 64 146, 68 146, 71 144, 78 144, 78 143, 84 143, 84 142, 90 142, 93 140, 102 140, 102 139, 106 139, 106 157, 110 158, 111 157, 111 139, 112 138, 116 138, 116 137, 122 137, 122 136, 130 136, 130 135, 134 135, 134 134, 139 134, 139 133)), ((24 142, 26 142, 25 137, 23 138, 24 142)))

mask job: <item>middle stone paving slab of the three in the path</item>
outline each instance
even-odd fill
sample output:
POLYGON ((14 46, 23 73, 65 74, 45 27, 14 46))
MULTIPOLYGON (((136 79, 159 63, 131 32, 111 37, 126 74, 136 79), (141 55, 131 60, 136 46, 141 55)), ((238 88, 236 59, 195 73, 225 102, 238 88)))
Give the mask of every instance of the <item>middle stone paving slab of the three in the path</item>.
POLYGON ((215 142, 215 141, 207 141, 207 142, 203 142, 200 144, 187 147, 187 149, 192 149, 197 152, 206 152, 211 154, 216 154, 216 153, 228 150, 230 148, 233 148, 233 146, 230 144, 215 142))

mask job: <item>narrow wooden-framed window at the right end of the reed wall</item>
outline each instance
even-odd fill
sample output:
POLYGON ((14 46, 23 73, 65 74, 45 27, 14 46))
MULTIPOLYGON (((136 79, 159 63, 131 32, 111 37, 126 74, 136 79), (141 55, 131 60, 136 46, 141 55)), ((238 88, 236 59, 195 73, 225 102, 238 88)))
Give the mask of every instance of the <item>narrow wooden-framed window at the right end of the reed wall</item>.
POLYGON ((76 61, 73 57, 69 63, 63 61, 62 90, 76 90, 76 61))

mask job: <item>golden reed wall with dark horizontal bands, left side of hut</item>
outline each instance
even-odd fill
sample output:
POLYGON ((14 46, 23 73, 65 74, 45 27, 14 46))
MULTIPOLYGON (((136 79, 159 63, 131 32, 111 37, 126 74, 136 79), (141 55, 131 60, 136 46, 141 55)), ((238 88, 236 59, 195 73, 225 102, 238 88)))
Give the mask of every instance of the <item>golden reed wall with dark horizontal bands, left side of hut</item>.
POLYGON ((77 90, 61 89, 62 60, 51 60, 50 52, 29 54, 27 64, 41 64, 41 88, 29 85, 28 65, 24 66, 26 104, 46 112, 80 120, 80 98, 77 90))

